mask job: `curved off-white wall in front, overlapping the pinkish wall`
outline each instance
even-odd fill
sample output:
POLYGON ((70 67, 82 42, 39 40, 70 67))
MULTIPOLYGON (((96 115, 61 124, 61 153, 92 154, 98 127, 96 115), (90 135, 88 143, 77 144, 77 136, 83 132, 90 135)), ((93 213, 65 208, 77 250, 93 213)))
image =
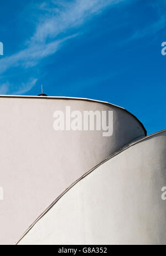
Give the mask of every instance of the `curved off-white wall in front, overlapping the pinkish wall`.
POLYGON ((166 244, 166 131, 79 181, 19 244, 166 244))

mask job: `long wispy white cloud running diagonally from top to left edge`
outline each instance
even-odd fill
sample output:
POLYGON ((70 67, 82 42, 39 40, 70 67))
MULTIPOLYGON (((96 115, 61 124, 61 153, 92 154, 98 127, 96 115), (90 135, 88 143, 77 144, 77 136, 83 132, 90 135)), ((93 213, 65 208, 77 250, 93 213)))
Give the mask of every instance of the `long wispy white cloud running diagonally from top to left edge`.
POLYGON ((94 14, 101 12, 110 4, 116 4, 123 0, 76 0, 70 4, 66 2, 67 8, 58 16, 50 11, 49 18, 38 24, 34 36, 28 43, 28 47, 12 56, 4 57, 0 61, 0 74, 11 67, 23 66, 25 68, 38 65, 43 58, 53 55, 67 40, 79 34, 56 40, 56 37, 70 28, 84 24, 94 14), (47 43, 46 40, 54 40, 47 43))

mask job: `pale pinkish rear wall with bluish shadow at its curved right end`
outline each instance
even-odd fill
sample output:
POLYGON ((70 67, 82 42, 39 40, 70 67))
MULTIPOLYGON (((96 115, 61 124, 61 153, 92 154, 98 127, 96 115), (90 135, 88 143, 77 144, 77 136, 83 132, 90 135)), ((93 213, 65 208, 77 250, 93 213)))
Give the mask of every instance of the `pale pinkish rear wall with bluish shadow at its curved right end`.
POLYGON ((141 123, 120 107, 91 100, 0 97, 0 244, 14 244, 48 206, 91 168, 145 135, 141 123), (55 131, 53 114, 113 111, 113 135, 102 131, 55 131))

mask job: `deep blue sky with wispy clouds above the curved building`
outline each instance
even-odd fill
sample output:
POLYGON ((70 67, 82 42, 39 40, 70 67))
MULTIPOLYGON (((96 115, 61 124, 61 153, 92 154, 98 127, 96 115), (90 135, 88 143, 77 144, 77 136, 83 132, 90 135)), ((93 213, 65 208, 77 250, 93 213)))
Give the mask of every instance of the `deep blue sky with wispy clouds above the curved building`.
POLYGON ((0 94, 87 97, 165 129, 165 0, 0 3, 0 94))

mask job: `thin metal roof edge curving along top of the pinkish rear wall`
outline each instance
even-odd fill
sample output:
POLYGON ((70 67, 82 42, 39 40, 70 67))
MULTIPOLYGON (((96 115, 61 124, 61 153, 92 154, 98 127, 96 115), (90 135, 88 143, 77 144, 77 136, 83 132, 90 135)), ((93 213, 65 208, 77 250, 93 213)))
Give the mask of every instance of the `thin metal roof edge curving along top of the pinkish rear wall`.
POLYGON ((139 124, 141 124, 143 130, 144 130, 144 134, 145 136, 147 136, 147 130, 144 127, 144 125, 142 124, 141 121, 139 121, 139 119, 133 115, 131 112, 129 112, 128 110, 126 110, 123 107, 117 106, 115 104, 111 104, 110 102, 107 101, 100 101, 100 100, 94 100, 94 99, 87 99, 87 98, 79 98, 79 97, 66 97, 66 96, 26 96, 26 95, 0 95, 0 98, 15 98, 15 99, 22 99, 22 98, 27 98, 27 99, 48 99, 48 100, 82 100, 82 101, 90 101, 90 102, 98 102, 101 104, 106 104, 106 105, 110 105, 110 106, 114 106, 114 107, 118 107, 119 109, 125 110, 126 112, 128 112, 128 114, 132 115, 134 117, 134 119, 136 119, 139 124))

